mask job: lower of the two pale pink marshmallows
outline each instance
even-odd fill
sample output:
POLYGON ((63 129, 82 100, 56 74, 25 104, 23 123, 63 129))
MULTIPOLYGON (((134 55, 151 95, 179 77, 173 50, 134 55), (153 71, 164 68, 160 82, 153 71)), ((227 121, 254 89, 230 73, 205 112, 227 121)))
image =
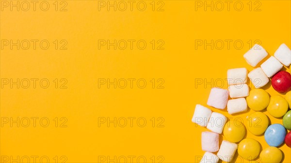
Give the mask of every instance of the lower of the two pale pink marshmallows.
POLYGON ((201 144, 202 150, 216 152, 219 149, 219 134, 213 132, 202 132, 201 144))

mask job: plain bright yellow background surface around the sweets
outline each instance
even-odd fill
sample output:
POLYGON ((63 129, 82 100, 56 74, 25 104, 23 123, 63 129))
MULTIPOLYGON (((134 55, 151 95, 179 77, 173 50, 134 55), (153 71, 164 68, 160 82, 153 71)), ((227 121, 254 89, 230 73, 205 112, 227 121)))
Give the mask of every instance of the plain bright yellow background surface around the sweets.
MULTIPOLYGON (((55 162, 55 156, 65 156, 66 163, 96 163, 98 156, 145 156, 151 163, 152 156, 162 156, 163 163, 193 163, 195 156, 204 154, 201 132, 207 129, 195 127, 191 119, 196 104, 206 106, 211 89, 210 84, 195 88, 195 78, 225 79, 227 69, 239 67, 251 71, 253 68, 242 57, 249 49, 249 40, 252 44, 259 40, 269 55, 282 43, 291 47, 290 0, 260 0, 261 11, 253 11, 255 1, 252 11, 247 5, 249 1, 242 1, 242 11, 230 5, 230 11, 225 6, 220 12, 210 8, 205 11, 203 7, 195 11, 193 0, 162 0, 164 11, 152 11, 152 0, 145 0, 145 11, 138 11, 136 6, 133 11, 98 11, 97 0, 66 0, 67 11, 63 12, 55 11, 54 0, 47 1, 50 8, 46 12, 39 8, 5 8, 0 12, 1 40, 36 39, 50 43, 48 50, 39 46, 36 50, 10 50, 9 46, 1 49, 1 79, 47 78, 50 82, 48 89, 39 85, 35 89, 17 89, 15 85, 11 89, 4 85, 1 89, 1 118, 47 117, 50 121, 48 127, 39 123, 36 127, 3 124, 1 156, 48 156, 50 162, 55 162), (98 40, 130 39, 145 40, 146 49, 134 46, 133 50, 108 50, 103 46, 98 50, 98 40), (54 40, 66 40, 67 50, 55 50, 54 40), (152 40, 163 40, 164 50, 152 50, 152 40), (195 40, 241 40, 244 44, 242 49, 233 44, 229 49, 226 44, 221 50, 212 50, 210 46, 195 49, 195 40), (55 89, 55 78, 65 78, 67 89, 55 89), (113 85, 110 89, 106 85, 98 89, 98 78, 144 78, 147 85, 140 89, 135 84, 130 89, 128 82, 125 89, 114 89, 113 85), (162 78, 164 89, 157 89, 157 83, 152 89, 153 78, 156 82, 162 78), (55 117, 65 117, 67 127, 55 127, 55 117), (147 124, 98 127, 98 117, 144 117, 147 124), (150 121, 152 117, 156 119, 155 127, 150 121), (160 117, 164 127, 156 127, 160 117)), ((223 88, 227 88, 226 81, 223 88)), ((271 95, 278 94, 270 84, 265 88, 271 95)), ((231 117, 226 109, 211 109, 231 117)), ((246 119, 252 112, 233 117, 246 119)), ((264 113, 272 123, 282 123, 264 113)), ((263 136, 247 133, 247 137, 259 140, 262 148, 268 147, 263 136)), ((284 145, 280 149, 285 154, 283 162, 291 163, 291 148, 284 145)))

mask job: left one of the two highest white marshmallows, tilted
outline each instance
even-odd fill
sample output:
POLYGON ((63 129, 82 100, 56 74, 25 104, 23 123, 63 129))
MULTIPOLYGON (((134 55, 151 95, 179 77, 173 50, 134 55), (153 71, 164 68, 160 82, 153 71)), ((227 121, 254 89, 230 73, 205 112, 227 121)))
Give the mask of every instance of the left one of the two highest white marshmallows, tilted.
POLYGON ((267 55, 267 51, 261 45, 255 44, 243 55, 243 58, 249 65, 255 67, 261 60, 267 57, 267 55))

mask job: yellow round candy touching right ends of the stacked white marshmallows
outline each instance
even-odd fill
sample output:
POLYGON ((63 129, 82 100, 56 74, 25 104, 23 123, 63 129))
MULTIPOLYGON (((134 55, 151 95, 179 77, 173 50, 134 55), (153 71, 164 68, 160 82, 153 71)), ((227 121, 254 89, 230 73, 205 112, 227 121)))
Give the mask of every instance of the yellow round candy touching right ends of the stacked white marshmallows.
POLYGON ((252 89, 246 97, 246 102, 249 108, 261 111, 268 106, 270 96, 264 89, 252 89))

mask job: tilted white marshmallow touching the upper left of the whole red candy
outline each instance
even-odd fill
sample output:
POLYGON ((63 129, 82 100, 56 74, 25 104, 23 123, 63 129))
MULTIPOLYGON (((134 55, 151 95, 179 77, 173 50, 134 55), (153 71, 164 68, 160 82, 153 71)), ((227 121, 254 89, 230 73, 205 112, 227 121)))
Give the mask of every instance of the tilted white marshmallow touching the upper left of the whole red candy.
POLYGON ((277 60, 275 57, 271 56, 267 59, 264 63, 261 64, 261 68, 263 72, 268 76, 271 77, 276 74, 278 71, 281 70, 283 65, 277 60))

